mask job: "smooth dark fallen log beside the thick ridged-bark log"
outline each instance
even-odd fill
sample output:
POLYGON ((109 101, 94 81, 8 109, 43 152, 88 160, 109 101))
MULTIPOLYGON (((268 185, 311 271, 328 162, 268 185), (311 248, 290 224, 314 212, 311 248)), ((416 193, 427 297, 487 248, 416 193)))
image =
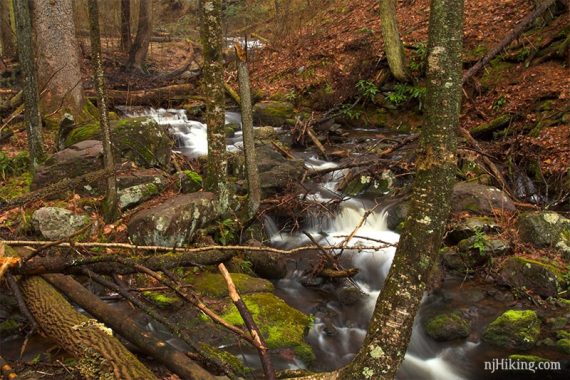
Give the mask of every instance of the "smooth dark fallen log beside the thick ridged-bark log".
POLYGON ((181 378, 197 380, 214 378, 186 354, 157 338, 151 331, 141 329, 131 318, 101 301, 73 278, 60 274, 45 275, 44 278, 89 314, 110 326, 116 333, 160 361, 181 378))

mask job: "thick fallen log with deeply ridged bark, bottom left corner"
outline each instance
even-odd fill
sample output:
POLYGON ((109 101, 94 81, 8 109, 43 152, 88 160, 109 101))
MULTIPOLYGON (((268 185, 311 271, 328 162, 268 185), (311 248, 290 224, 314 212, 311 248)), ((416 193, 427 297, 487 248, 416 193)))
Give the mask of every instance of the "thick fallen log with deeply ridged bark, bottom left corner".
POLYGON ((156 379, 112 332, 77 312, 40 277, 20 281, 26 305, 42 332, 79 359, 79 370, 88 379, 156 379))

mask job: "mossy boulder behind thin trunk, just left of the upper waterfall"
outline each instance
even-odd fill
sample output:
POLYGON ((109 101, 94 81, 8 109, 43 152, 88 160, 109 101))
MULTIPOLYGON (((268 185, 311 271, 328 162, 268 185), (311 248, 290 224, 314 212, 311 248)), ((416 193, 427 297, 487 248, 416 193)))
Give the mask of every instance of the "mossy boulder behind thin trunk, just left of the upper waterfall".
MULTIPOLYGON (((85 140, 100 140, 99 124, 88 124, 72 129, 65 137, 69 147, 85 140)), ((135 162, 143 167, 168 167, 173 146, 164 126, 153 119, 136 117, 111 122, 111 140, 116 157, 135 162)))

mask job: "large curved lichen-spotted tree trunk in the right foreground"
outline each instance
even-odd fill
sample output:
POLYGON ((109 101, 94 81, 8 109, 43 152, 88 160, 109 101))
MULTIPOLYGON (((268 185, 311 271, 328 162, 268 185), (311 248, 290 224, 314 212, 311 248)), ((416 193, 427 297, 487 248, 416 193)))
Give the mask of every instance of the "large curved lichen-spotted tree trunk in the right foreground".
POLYGON ((426 120, 410 214, 376 302, 368 335, 343 379, 393 379, 441 245, 456 169, 461 104, 463 1, 432 0, 426 120))

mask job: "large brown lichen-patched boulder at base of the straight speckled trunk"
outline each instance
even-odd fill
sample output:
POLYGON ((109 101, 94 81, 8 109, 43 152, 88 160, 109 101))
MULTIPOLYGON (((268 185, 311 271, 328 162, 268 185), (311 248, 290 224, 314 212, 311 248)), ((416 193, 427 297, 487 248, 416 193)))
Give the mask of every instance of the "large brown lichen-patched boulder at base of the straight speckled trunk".
POLYGON ((181 194, 135 214, 128 233, 138 245, 186 246, 198 229, 218 216, 214 194, 181 194))

